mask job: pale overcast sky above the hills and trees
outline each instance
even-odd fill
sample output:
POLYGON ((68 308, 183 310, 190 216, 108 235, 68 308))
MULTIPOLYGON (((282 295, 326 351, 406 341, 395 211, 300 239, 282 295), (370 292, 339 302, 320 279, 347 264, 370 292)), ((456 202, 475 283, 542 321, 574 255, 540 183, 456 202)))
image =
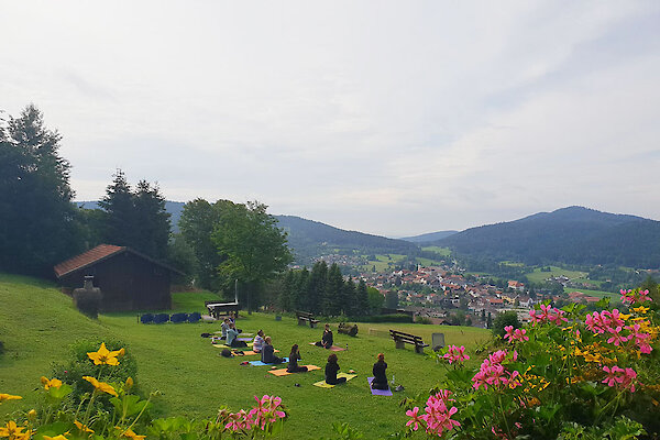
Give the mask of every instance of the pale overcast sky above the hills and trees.
POLYGON ((660 2, 0 0, 0 110, 121 168, 387 237, 660 220, 660 2))

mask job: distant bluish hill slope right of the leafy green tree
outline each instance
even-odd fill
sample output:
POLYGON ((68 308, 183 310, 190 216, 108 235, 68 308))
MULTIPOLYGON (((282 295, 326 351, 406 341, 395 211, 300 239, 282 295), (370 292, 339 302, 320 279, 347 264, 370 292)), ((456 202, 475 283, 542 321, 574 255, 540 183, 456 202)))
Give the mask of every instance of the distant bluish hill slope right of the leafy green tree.
POLYGON ((419 248, 404 240, 387 239, 356 231, 344 231, 318 221, 295 216, 275 216, 279 227, 288 233, 289 245, 299 263, 314 256, 331 253, 415 254, 419 248))

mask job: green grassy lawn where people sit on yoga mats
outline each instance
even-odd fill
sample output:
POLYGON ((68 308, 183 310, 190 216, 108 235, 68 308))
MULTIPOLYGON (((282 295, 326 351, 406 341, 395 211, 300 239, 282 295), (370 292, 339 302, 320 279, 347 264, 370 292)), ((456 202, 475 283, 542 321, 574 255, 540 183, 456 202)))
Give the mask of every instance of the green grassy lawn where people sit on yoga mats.
MULTIPOLYGON (((280 438, 331 437, 333 421, 350 422, 365 438, 383 438, 405 424, 399 402, 428 392, 443 377, 444 370, 410 348, 396 350, 388 338, 370 336, 370 328, 381 333, 396 328, 420 334, 428 342, 432 332, 444 332, 448 344, 465 344, 469 349, 490 337, 487 331, 475 328, 360 323, 358 338, 336 332, 336 343, 349 345, 348 351, 338 353, 339 364, 342 371, 354 369, 358 377, 333 389, 322 389, 312 386, 322 380, 322 371, 275 377, 267 367, 240 366, 242 359, 219 356, 209 339, 200 338, 202 332, 218 331, 219 323, 145 326, 138 323, 134 314, 91 320, 78 314, 70 299, 52 285, 2 274, 0 298, 0 339, 6 345, 6 353, 0 355, 0 393, 23 396, 23 400, 0 407, 0 421, 16 408, 34 405, 38 378, 48 374, 52 362, 67 356, 70 343, 81 338, 113 338, 125 341, 127 350, 135 356, 141 388, 163 393, 155 407, 161 415, 206 418, 221 405, 248 408, 254 395, 275 394, 282 396, 290 411, 280 438), (369 392, 366 376, 371 375, 378 352, 385 353, 389 376, 395 375, 396 382, 406 387, 394 397, 372 396, 369 392), (300 387, 294 386, 296 383, 300 387)), ((208 293, 175 294, 174 305, 182 311, 201 311, 204 300, 212 298, 208 293)), ((299 327, 295 319, 286 317, 275 321, 265 314, 242 316, 238 326, 249 332, 264 329, 283 355, 288 354, 293 343, 298 343, 301 363, 321 367, 326 364, 328 352, 307 344, 320 339, 320 329, 299 327)))

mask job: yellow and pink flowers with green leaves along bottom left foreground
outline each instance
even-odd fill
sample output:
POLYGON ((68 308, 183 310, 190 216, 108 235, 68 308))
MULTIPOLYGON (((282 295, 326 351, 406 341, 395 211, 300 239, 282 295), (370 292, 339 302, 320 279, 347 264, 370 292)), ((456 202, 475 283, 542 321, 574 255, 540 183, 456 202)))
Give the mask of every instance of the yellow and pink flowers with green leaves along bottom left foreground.
MULTIPOLYGON (((101 343, 97 351, 85 354, 96 371, 95 375, 81 377, 90 392, 74 398, 74 386, 66 380, 43 376, 42 404, 25 414, 14 413, 14 420, 0 424, 0 440, 144 440, 147 433, 161 440, 256 439, 282 431, 286 418, 282 398, 267 395, 255 396, 257 404, 249 411, 230 413, 221 408, 213 420, 170 417, 147 421, 143 416, 157 393, 143 399, 133 394, 132 377, 111 381, 117 377, 113 369, 120 367, 125 350, 111 351, 101 343), (108 399, 111 411, 96 405, 101 398, 108 399)), ((0 405, 16 399, 21 396, 0 393, 0 405)))

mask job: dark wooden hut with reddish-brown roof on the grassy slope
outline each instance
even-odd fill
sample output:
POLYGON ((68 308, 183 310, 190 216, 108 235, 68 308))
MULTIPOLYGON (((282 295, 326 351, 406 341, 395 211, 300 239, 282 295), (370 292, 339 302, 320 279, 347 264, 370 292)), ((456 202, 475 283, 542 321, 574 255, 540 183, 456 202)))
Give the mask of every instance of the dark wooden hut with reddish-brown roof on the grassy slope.
POLYGON ((85 277, 94 276, 103 311, 169 309, 172 275, 183 275, 130 248, 111 244, 100 244, 54 270, 65 292, 82 287, 85 277))

